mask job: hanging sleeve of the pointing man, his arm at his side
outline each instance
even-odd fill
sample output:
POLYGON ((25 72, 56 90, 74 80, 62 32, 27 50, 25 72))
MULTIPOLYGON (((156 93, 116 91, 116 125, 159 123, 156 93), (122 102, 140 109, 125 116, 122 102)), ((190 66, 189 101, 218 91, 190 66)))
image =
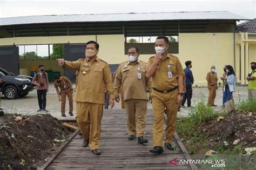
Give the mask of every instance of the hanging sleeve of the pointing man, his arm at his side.
POLYGON ((109 92, 109 98, 114 99, 114 88, 109 64, 106 64, 104 67, 104 82, 107 92, 109 92))

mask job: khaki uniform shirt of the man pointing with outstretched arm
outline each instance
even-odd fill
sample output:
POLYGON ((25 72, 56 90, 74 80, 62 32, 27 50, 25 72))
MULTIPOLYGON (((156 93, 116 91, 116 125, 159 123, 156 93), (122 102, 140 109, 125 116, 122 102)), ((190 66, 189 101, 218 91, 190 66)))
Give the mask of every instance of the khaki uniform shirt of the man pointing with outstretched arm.
POLYGON ((105 104, 105 86, 110 99, 114 99, 110 67, 103 60, 97 57, 93 62, 89 58, 75 62, 65 61, 64 67, 79 72, 75 101, 105 104))

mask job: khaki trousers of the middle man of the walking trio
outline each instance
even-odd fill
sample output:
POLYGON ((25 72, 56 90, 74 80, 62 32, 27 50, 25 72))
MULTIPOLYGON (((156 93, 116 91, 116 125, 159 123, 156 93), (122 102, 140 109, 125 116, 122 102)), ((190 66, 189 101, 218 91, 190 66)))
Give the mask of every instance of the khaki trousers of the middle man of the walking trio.
POLYGON ((129 99, 124 101, 127 115, 127 132, 142 137, 145 135, 147 100, 129 99))

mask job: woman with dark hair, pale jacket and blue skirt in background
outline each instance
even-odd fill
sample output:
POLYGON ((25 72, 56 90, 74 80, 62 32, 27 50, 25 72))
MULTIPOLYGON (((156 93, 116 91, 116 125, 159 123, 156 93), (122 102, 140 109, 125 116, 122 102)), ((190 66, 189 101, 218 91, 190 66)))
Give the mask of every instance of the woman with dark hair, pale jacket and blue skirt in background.
POLYGON ((232 100, 233 98, 232 94, 235 92, 235 84, 237 83, 237 78, 235 77, 234 69, 231 65, 226 65, 226 72, 227 76, 225 79, 224 95, 226 96, 226 101, 228 101, 232 100))

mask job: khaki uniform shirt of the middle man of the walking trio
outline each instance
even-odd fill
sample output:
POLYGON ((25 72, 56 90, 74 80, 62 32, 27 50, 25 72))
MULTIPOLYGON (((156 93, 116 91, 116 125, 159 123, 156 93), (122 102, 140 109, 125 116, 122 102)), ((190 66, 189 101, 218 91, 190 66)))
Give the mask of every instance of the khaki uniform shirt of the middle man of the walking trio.
POLYGON ((114 77, 114 95, 117 96, 120 86, 123 86, 124 100, 144 99, 147 100, 147 87, 152 91, 151 78, 146 78, 145 62, 124 62, 117 69, 114 77))

